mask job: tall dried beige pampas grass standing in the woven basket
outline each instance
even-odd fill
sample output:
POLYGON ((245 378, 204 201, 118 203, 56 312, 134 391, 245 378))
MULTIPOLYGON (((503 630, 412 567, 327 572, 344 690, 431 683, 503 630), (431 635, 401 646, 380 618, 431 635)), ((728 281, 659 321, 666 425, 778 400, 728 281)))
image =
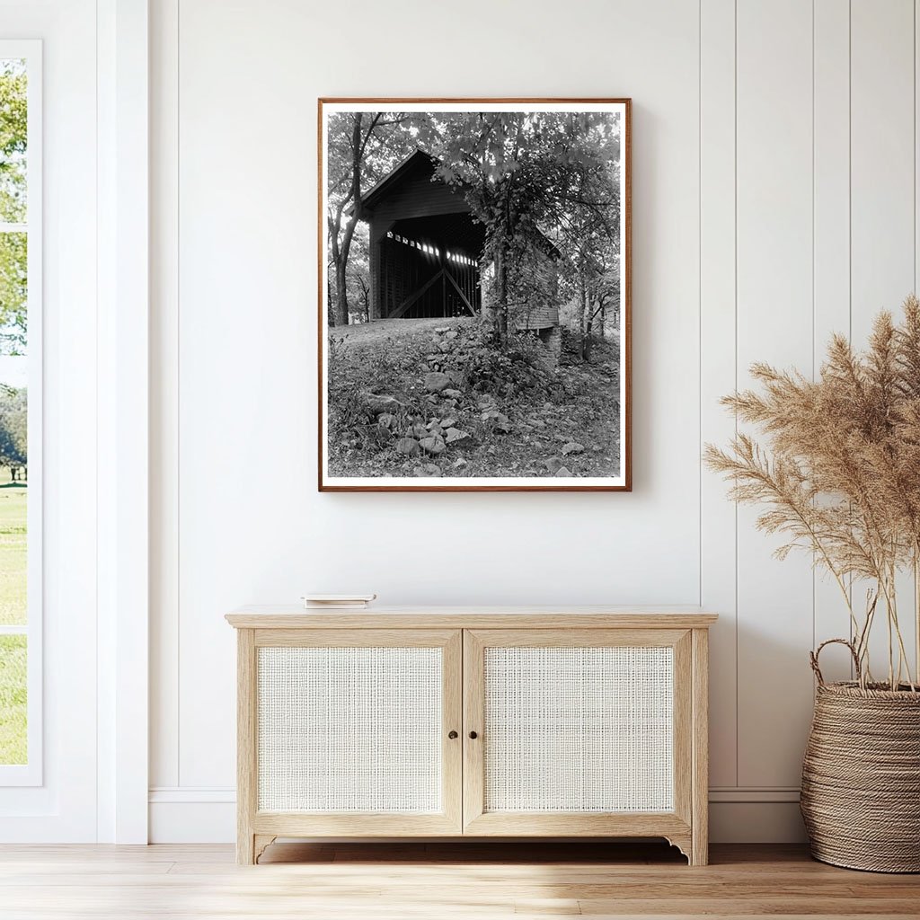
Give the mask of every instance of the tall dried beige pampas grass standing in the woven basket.
POLYGON ((707 466, 730 482, 730 498, 765 506, 758 527, 787 537, 778 558, 805 549, 830 572, 850 613, 863 684, 879 680, 871 676, 868 636, 883 610, 888 684, 920 689, 920 302, 907 298, 900 324, 880 314, 864 352, 834 336, 817 381, 768 364, 751 373, 759 389, 722 403, 763 432, 768 450, 739 433, 728 450, 707 444, 707 466), (895 586, 903 570, 914 578, 913 677, 895 586), (859 613, 857 581, 869 583, 859 613))

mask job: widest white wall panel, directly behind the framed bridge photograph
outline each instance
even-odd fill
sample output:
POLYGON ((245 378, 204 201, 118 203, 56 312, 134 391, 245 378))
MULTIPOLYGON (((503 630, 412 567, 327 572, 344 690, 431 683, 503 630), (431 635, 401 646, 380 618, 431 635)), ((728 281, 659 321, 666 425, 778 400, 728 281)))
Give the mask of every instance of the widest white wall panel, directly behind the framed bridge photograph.
POLYGON ((179 761, 232 786, 236 604, 309 590, 382 603, 699 599, 699 40, 696 4, 179 5, 179 761), (483 22, 489 23, 483 29, 483 22), (550 25, 552 23, 552 25, 550 25), (616 54, 610 53, 616 33, 616 54), (488 66, 445 56, 443 36, 488 66), (507 37, 513 35, 509 45, 507 37), (546 60, 557 65, 546 69, 546 60), (622 89, 620 89, 622 87, 622 89), (317 494, 316 98, 632 95, 636 489, 615 496, 317 494), (266 132, 243 136, 241 113, 266 132), (424 523, 423 523, 424 522, 424 523))

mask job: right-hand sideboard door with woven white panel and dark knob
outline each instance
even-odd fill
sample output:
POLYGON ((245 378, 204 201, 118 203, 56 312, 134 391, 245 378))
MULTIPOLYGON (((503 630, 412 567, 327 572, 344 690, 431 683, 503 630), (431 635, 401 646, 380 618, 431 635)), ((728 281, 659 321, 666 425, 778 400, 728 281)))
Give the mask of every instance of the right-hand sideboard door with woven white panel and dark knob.
POLYGON ((464 832, 690 830, 687 630, 465 632, 464 832))

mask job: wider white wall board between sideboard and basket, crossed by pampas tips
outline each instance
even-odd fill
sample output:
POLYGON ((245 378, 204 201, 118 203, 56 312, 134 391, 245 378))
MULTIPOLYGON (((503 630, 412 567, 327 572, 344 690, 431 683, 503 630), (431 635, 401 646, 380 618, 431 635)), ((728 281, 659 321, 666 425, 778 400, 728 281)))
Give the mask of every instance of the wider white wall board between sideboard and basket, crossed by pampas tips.
MULTIPOLYGON (((738 365, 812 361, 812 15, 738 4, 738 365)), ((738 783, 794 786, 811 715, 811 560, 738 522, 738 783), (777 743, 777 739, 788 739, 777 743)))

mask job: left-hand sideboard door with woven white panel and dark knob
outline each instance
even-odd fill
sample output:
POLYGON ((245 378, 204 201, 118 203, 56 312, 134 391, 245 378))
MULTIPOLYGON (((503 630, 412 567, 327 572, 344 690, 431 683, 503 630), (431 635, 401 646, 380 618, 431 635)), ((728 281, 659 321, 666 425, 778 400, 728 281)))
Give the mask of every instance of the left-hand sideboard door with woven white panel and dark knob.
POLYGON ((460 833, 460 662, 459 630, 256 630, 253 830, 460 833))

